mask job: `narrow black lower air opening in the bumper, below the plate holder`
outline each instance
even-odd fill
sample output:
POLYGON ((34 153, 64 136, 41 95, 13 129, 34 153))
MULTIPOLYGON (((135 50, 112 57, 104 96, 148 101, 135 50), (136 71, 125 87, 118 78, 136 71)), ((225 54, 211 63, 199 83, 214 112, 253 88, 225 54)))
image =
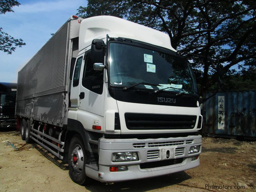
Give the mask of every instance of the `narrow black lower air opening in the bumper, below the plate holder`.
POLYGON ((182 161, 183 161, 183 158, 177 158, 177 159, 170 159, 170 160, 142 163, 142 164, 140 164, 140 169, 164 167, 164 166, 169 166, 169 165, 174 165, 174 164, 182 163, 182 161))

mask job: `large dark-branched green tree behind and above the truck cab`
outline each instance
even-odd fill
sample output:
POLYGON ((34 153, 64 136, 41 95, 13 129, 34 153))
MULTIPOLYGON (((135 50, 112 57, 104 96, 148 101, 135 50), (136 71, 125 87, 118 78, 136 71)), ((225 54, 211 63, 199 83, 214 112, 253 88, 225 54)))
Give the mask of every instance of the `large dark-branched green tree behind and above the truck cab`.
POLYGON ((220 64, 224 73, 241 63, 244 72, 255 69, 255 8, 253 0, 88 0, 77 15, 112 15, 167 33, 191 61, 202 94, 218 81, 220 64))

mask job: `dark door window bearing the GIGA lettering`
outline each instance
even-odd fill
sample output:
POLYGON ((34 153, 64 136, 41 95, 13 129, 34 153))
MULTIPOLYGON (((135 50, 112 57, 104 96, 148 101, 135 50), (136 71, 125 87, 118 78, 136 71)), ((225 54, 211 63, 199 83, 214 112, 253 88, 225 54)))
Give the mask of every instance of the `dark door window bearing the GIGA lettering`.
POLYGON ((103 92, 103 74, 104 74, 104 70, 95 71, 93 69, 91 53, 89 52, 85 58, 82 85, 86 89, 89 89, 92 92, 102 94, 102 92, 103 92))

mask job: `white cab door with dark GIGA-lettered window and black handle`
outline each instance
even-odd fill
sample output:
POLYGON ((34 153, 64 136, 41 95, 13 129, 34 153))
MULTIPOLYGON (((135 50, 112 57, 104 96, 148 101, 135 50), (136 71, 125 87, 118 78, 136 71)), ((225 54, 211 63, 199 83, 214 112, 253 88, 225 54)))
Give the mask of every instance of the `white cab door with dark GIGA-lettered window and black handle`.
POLYGON ((91 52, 84 55, 84 64, 81 68, 82 81, 80 83, 78 108, 104 116, 104 71, 95 71, 91 60, 91 52))

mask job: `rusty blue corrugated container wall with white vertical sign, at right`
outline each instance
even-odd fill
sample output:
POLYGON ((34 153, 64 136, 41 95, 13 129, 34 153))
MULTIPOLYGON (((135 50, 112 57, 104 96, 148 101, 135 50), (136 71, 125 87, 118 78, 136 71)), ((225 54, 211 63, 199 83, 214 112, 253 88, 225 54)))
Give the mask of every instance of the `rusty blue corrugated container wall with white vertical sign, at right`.
MULTIPOLYGON (((214 92, 207 92, 206 98, 214 92)), ((256 91, 218 92, 203 104, 206 135, 256 138, 256 91)))

